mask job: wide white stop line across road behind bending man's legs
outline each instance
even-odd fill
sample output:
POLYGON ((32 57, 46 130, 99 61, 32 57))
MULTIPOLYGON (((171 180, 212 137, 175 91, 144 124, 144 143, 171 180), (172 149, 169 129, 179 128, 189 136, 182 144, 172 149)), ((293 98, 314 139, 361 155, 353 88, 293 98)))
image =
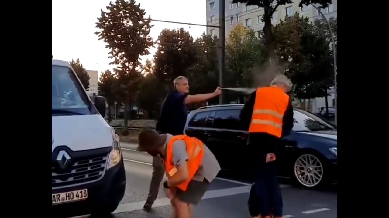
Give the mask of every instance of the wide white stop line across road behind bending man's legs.
MULTIPOLYGON (((223 196, 231 196, 236 194, 248 193, 250 192, 251 186, 240 186, 230 189, 219 189, 219 190, 210 190, 205 192, 205 195, 202 199, 210 199, 215 197, 223 197, 223 196)), ((128 204, 119 204, 116 211, 114 213, 121 212, 131 212, 136 211, 143 208, 143 205, 146 201, 132 202, 128 204)), ((162 207, 170 205, 170 199, 168 198, 157 198, 153 204, 153 208, 162 207)))

